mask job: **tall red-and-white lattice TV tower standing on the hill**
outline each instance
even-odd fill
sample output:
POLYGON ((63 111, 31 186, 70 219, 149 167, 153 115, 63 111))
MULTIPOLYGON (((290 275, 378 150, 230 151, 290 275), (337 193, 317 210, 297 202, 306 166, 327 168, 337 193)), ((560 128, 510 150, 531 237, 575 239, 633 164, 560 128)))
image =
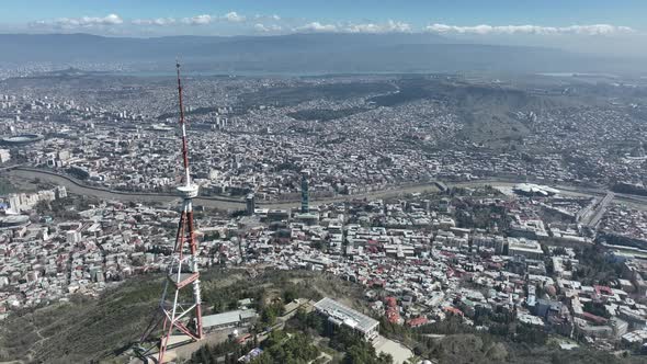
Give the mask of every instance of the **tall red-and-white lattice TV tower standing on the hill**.
POLYGON ((203 338, 197 244, 195 242, 193 225, 193 197, 197 196, 198 187, 196 184, 191 183, 180 64, 175 62, 175 67, 178 70, 182 159, 184 166, 184 183, 178 186, 178 193, 182 196, 182 214, 178 224, 178 234, 175 235, 175 246, 171 255, 171 263, 167 271, 164 289, 159 303, 161 319, 154 318, 151 325, 149 325, 141 337, 141 341, 144 341, 160 322, 163 322, 158 363, 164 362, 164 353, 167 352, 168 345, 172 344, 169 342, 169 339, 173 333, 185 334, 193 340, 201 340, 203 338), (186 288, 192 288, 192 295, 181 294, 181 291, 188 291, 186 288), (185 297, 189 296, 191 298, 186 299, 185 297))

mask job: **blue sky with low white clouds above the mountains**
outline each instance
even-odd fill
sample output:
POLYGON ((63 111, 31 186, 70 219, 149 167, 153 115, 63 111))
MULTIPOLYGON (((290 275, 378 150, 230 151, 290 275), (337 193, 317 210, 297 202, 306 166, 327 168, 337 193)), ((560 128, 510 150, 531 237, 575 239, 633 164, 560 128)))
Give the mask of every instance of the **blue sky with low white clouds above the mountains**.
POLYGON ((599 44, 636 48, 635 42, 647 41, 645 0, 0 1, 0 33, 149 37, 427 32, 591 50, 599 44))

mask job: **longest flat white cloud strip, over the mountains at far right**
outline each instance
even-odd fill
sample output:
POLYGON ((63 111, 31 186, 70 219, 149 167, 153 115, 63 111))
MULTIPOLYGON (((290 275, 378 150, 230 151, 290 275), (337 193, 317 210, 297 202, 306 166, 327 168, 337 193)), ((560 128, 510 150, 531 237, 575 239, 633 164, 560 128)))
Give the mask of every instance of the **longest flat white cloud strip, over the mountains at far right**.
POLYGON ((457 26, 447 24, 431 24, 425 29, 431 33, 439 34, 579 34, 579 35, 611 35, 634 32, 628 26, 615 26, 610 24, 570 25, 570 26, 540 26, 540 25, 475 25, 457 26))

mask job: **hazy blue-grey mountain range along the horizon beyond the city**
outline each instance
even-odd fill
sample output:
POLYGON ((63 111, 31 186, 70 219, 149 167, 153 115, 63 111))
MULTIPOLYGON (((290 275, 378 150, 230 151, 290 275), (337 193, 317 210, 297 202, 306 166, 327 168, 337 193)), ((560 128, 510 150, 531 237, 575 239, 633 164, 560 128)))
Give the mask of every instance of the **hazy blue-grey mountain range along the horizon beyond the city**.
MULTIPOLYGON (((172 62, 222 72, 624 72, 642 64, 555 48, 457 43, 434 34, 105 37, 0 34, 2 61, 172 62)), ((161 68, 160 68, 161 69, 161 68)))

